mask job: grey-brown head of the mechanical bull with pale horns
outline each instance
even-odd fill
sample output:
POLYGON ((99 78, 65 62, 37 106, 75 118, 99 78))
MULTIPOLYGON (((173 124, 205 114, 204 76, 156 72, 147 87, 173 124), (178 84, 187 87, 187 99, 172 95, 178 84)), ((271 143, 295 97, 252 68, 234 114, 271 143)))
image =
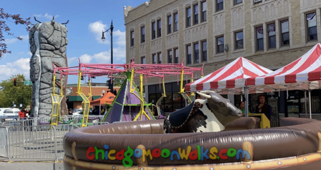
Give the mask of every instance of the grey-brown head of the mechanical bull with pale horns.
POLYGON ((235 107, 230 100, 223 98, 214 91, 197 92, 199 95, 207 98, 209 109, 220 121, 223 126, 242 116, 242 111, 235 107))

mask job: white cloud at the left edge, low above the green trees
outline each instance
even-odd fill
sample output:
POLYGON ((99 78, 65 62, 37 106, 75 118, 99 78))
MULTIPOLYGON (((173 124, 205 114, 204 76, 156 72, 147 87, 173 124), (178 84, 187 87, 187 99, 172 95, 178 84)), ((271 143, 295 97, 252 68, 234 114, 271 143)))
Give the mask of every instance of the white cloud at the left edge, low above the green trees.
POLYGON ((30 77, 29 58, 21 58, 13 63, 0 65, 1 80, 10 78, 12 75, 23 74, 26 79, 30 77))

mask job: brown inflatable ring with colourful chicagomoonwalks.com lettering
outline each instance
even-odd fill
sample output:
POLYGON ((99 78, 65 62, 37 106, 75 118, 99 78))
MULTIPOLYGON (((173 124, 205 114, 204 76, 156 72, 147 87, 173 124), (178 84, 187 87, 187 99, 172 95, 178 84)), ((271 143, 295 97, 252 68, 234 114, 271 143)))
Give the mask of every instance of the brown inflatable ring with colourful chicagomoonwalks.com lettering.
MULTIPOLYGON (((255 122, 254 122, 255 123, 255 122)), ((84 127, 64 137, 65 169, 320 169, 321 121, 164 134, 164 120, 84 127)))

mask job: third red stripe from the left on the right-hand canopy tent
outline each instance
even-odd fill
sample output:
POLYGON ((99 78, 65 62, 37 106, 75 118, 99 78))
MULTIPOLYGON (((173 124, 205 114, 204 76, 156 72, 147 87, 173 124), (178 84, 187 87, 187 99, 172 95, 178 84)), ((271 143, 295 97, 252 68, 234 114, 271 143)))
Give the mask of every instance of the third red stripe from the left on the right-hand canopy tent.
POLYGON ((304 71, 306 68, 310 67, 321 55, 320 46, 316 46, 310 56, 305 60, 305 62, 294 72, 285 75, 284 82, 285 83, 296 83, 296 74, 304 71))

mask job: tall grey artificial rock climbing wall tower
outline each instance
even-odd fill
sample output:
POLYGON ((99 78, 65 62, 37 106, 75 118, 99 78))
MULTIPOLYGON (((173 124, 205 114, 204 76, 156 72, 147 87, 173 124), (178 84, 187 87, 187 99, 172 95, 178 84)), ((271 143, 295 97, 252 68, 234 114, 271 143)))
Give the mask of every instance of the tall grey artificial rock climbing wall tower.
MULTIPOLYGON (((51 115, 51 94, 54 85, 56 94, 60 95, 61 86, 65 94, 67 77, 62 77, 63 84, 61 84, 60 74, 57 73, 56 82, 53 82, 53 64, 56 67, 68 67, 67 44, 67 28, 54 20, 36 24, 30 31, 30 51, 33 54, 30 59, 30 78, 33 82, 33 117, 51 115)), ((64 114, 67 112, 65 97, 61 103, 61 113, 64 114)))

